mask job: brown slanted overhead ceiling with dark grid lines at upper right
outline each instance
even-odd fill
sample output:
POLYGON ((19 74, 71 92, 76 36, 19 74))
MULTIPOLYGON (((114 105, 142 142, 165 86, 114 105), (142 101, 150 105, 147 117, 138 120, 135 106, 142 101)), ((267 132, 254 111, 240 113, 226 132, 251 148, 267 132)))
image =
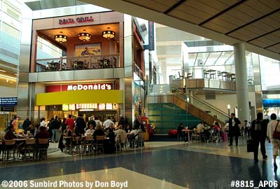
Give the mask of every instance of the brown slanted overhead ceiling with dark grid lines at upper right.
POLYGON ((80 0, 280 60, 279 0, 80 0))

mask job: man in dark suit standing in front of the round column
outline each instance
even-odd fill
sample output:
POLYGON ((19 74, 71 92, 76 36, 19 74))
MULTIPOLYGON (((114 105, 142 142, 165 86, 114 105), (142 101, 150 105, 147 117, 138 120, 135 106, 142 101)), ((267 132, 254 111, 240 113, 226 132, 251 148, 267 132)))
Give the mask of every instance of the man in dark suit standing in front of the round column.
POLYGON ((235 144, 238 146, 238 137, 240 136, 239 124, 241 123, 238 118, 235 118, 235 113, 232 113, 230 116, 230 120, 228 121, 230 144, 228 146, 232 146, 233 137, 235 137, 235 144))

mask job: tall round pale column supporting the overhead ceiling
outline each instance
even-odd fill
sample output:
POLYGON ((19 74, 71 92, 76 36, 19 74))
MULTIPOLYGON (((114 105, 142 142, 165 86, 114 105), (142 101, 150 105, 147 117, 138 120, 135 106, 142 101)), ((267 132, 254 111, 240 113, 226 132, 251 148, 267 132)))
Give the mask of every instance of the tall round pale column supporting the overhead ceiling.
POLYGON ((242 123, 244 120, 250 120, 244 43, 236 43, 234 45, 234 50, 235 50, 235 74, 236 74, 236 88, 237 88, 237 109, 238 109, 238 118, 242 123))

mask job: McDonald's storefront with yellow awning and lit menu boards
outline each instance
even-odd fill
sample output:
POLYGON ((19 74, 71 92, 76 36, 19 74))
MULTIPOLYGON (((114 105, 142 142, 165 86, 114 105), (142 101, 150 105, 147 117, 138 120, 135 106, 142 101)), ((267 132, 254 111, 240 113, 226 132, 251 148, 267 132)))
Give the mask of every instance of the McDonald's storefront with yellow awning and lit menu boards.
POLYGON ((38 94, 36 97, 36 105, 41 106, 41 111, 44 110, 44 115, 40 116, 44 116, 47 120, 55 116, 68 118, 70 114, 76 118, 81 113, 85 120, 91 117, 102 121, 107 118, 118 121, 122 100, 118 99, 119 96, 110 95, 111 92, 122 94, 122 91, 118 90, 117 83, 118 80, 116 82, 103 81, 102 83, 47 84, 45 93, 38 94), (78 92, 77 98, 73 96, 73 92, 78 92), (49 97, 52 93, 55 94, 55 99, 49 97), (106 93, 104 98, 99 96, 101 93, 106 93), (45 99, 49 100, 45 101, 45 99))

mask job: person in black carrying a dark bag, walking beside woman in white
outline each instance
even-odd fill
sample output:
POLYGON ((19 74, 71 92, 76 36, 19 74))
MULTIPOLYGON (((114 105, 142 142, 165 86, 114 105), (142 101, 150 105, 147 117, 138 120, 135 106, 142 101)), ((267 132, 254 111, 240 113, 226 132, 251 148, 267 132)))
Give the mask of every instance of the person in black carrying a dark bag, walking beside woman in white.
POLYGON ((257 119, 253 120, 251 126, 251 137, 255 144, 254 160, 258 162, 258 145, 260 144, 260 152, 262 159, 267 160, 265 151, 265 139, 267 137, 267 120, 262 120, 262 113, 257 113, 257 119))

